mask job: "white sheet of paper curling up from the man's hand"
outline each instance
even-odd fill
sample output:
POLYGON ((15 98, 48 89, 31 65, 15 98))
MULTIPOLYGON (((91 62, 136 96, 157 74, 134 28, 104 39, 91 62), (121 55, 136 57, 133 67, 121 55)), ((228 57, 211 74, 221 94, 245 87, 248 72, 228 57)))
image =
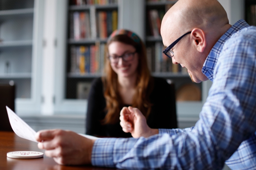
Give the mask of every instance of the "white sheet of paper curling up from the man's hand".
POLYGON ((13 131, 20 137, 37 142, 35 139, 36 131, 16 115, 10 108, 6 106, 9 121, 13 131))

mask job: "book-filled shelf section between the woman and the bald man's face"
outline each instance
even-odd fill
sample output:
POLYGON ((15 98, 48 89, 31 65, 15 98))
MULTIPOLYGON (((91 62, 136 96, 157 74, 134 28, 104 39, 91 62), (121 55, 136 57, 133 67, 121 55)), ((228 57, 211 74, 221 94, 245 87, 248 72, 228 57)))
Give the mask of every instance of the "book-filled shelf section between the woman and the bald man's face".
MULTIPOLYGON (((173 64, 171 59, 162 54, 165 47, 162 43, 162 37, 160 34, 162 18, 176 2, 177 1, 174 0, 147 0, 145 2, 145 42, 148 52, 149 68, 152 75, 169 79, 169 81, 171 80, 171 82, 175 84, 176 90, 178 90, 183 85, 192 84, 192 82, 188 76, 186 68, 182 68, 178 64, 173 64)), ((193 84, 200 89, 202 94, 202 83, 193 84)), ((202 103, 202 100, 204 100, 203 98, 203 95, 201 95, 201 99, 196 102, 202 103)))

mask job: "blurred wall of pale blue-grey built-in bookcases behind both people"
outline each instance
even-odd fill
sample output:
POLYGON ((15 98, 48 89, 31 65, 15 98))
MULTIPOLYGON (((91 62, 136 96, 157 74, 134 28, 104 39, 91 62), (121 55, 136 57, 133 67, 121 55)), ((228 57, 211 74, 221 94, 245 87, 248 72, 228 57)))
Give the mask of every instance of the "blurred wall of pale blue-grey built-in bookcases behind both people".
MULTIPOLYGON (((256 0, 219 1, 230 24, 245 19, 256 25, 256 0)), ((36 131, 84 133, 90 84, 102 75, 107 37, 124 28, 145 42, 152 75, 174 83, 179 128, 194 126, 212 83, 192 83, 186 69, 162 55, 161 20, 176 2, 0 0, 0 83, 15 86, 15 112, 36 131), (81 65, 81 55, 88 65, 81 65)))

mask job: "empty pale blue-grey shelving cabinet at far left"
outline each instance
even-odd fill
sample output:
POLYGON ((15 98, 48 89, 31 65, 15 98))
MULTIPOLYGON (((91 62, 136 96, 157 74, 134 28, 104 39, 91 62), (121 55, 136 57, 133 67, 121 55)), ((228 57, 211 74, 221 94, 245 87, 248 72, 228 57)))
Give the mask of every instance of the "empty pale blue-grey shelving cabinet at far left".
POLYGON ((16 85, 18 114, 40 110, 42 6, 39 0, 0 1, 0 82, 16 85))

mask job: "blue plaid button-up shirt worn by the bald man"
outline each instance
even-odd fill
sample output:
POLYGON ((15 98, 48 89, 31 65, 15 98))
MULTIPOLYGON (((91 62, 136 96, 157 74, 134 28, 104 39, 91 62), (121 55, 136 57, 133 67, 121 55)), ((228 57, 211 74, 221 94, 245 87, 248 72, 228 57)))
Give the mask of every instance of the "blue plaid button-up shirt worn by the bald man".
POLYGON ((193 128, 95 141, 92 165, 123 169, 256 169, 256 27, 240 20, 214 45, 202 72, 213 81, 193 128))

